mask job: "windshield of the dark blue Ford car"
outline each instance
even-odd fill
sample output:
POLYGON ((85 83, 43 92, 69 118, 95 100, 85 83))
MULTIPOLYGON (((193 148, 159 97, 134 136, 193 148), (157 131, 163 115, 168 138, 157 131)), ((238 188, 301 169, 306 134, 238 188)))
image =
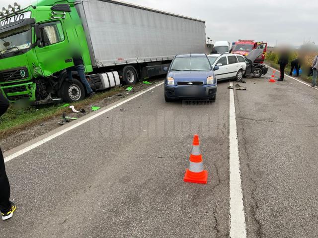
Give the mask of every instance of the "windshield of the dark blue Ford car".
POLYGON ((175 58, 171 65, 173 71, 201 71, 211 70, 211 65, 206 57, 181 57, 175 58))

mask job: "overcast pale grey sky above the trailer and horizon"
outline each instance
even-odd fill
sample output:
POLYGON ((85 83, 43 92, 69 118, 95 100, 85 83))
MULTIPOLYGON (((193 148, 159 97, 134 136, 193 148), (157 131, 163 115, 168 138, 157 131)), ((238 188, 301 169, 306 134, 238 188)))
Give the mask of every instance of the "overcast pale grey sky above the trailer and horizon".
MULTIPOLYGON (((317 0, 126 0, 206 21, 206 36, 214 41, 253 39, 301 45, 318 45, 317 0)), ((0 0, 0 5, 14 0, 0 0)), ((30 0, 18 0, 21 5, 30 0)))

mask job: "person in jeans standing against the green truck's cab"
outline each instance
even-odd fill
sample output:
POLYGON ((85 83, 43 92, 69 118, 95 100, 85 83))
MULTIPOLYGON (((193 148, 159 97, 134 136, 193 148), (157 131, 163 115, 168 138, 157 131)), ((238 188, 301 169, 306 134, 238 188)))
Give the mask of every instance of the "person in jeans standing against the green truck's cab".
POLYGON ((95 95, 95 93, 91 89, 91 87, 90 87, 90 85, 85 77, 84 61, 83 61, 81 55, 78 52, 76 52, 76 53, 73 53, 72 58, 73 58, 74 66, 66 69, 66 71, 68 73, 69 81, 71 81, 71 82, 73 81, 72 71, 77 71, 79 74, 79 79, 82 82, 82 84, 85 86, 86 91, 88 93, 88 96, 91 97, 91 96, 95 95))

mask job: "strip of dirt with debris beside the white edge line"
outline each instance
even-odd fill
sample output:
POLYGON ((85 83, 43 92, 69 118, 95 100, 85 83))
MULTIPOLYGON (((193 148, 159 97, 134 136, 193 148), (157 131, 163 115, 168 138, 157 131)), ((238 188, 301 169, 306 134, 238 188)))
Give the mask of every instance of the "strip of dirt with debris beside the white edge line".
MULTIPOLYGON (((155 86, 156 84, 160 83, 163 81, 162 77, 158 78, 153 78, 151 80, 148 80, 152 84, 142 84, 142 82, 139 82, 137 85, 133 85, 133 90, 132 91, 123 91, 120 92, 114 96, 108 96, 100 101, 94 102, 92 105, 88 105, 86 107, 80 108, 84 109, 86 114, 82 113, 73 113, 72 109, 65 108, 65 113, 67 117, 75 117, 75 118, 81 118, 85 115, 88 115, 92 113, 91 106, 97 106, 97 107, 106 107, 109 104, 112 104, 122 98, 128 97, 136 92, 142 91, 146 88, 155 86)), ((79 108, 76 108, 77 111, 80 111, 79 108)), ((22 130, 13 132, 12 134, 9 134, 7 136, 4 136, 4 138, 1 138, 0 140, 0 147, 2 152, 10 150, 16 146, 19 146, 31 139, 34 139, 40 135, 43 135, 47 132, 50 132, 51 130, 57 128, 57 127, 62 127, 64 125, 58 124, 62 120, 62 115, 61 116, 53 116, 51 119, 47 119, 45 121, 41 121, 41 123, 29 126, 27 128, 24 128, 22 130)), ((66 123, 65 123, 66 124, 66 123)))

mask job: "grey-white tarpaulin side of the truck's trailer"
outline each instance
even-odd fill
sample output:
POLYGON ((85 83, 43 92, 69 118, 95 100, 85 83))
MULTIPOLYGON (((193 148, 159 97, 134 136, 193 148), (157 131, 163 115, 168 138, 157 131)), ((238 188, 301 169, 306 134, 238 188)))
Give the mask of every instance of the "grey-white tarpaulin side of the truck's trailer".
POLYGON ((94 66, 205 52, 204 21, 112 0, 83 0, 77 8, 81 18, 85 17, 94 66))

